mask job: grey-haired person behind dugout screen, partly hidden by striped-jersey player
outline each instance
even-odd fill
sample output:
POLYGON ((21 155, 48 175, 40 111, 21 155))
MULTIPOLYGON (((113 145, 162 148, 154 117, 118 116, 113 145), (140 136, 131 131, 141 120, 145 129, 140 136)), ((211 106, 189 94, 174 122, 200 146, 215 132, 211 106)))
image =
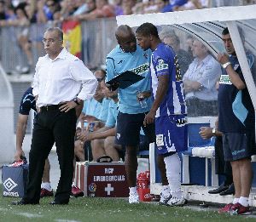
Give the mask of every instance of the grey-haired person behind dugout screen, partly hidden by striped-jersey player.
POLYGON ((188 70, 189 64, 192 62, 193 57, 190 54, 180 48, 180 40, 173 30, 163 30, 160 32, 160 39, 163 43, 171 46, 177 55, 178 65, 180 66, 180 72, 183 76, 188 70))

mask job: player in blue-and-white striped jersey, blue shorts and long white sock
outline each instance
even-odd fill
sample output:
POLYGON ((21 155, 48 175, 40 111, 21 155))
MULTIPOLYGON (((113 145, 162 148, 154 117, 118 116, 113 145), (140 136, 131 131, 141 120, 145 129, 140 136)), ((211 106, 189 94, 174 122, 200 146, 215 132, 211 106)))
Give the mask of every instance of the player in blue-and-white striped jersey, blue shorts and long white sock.
POLYGON ((141 48, 150 48, 151 77, 154 103, 145 116, 144 124, 155 120, 156 145, 159 155, 164 157, 166 175, 172 198, 169 206, 183 206, 181 192, 181 162, 177 151, 188 147, 187 108, 183 95, 183 81, 177 56, 173 49, 160 41, 156 26, 144 23, 136 31, 141 48))

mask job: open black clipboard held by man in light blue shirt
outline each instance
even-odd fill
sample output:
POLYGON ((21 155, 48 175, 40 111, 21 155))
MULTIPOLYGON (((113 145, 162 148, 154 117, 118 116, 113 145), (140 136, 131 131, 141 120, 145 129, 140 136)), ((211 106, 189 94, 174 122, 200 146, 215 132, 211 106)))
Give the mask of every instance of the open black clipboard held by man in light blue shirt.
POLYGON ((143 78, 145 78, 145 77, 137 75, 133 71, 124 71, 124 72, 120 73, 118 76, 113 77, 113 79, 109 80, 107 82, 107 84, 116 85, 118 83, 119 88, 125 89, 125 88, 131 86, 132 84, 141 81, 143 78))

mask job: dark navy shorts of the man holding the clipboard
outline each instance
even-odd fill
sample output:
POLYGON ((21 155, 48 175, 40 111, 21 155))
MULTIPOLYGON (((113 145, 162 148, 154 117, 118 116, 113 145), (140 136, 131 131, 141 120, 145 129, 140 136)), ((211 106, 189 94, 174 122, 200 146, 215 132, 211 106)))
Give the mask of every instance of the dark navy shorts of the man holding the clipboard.
POLYGON ((148 143, 155 141, 154 123, 143 126, 145 114, 127 114, 119 112, 117 117, 115 143, 119 145, 137 146, 140 143, 140 130, 143 128, 148 143))

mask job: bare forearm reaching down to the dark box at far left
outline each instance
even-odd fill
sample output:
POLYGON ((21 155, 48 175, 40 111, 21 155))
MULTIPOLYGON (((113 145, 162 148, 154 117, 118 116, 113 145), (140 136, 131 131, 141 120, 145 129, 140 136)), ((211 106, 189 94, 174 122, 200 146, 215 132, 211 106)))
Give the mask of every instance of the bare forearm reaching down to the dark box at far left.
POLYGON ((19 113, 17 128, 16 128, 16 152, 15 161, 20 161, 20 157, 24 154, 22 151, 22 143, 26 134, 28 115, 19 113))

